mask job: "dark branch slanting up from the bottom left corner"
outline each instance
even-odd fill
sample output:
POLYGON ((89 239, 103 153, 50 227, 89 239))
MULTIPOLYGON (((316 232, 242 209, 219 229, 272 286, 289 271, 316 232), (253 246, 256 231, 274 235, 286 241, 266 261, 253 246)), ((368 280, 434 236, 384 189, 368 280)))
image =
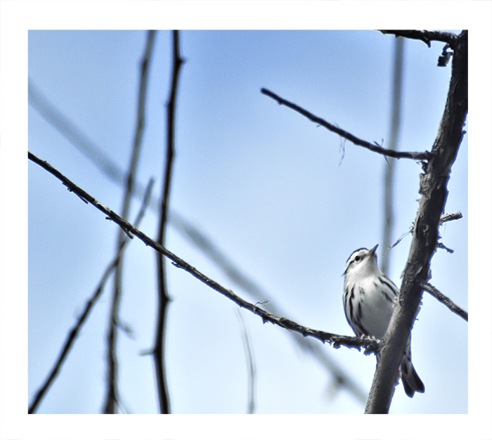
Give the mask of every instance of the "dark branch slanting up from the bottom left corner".
MULTIPOLYGON (((138 226, 141 220, 143 219, 143 214, 145 213, 145 209, 147 208, 148 202, 150 200, 150 193, 152 192, 153 184, 154 184, 153 179, 150 179, 147 189, 145 190, 145 197, 143 198, 142 206, 135 219, 135 226, 138 226)), ((46 392, 48 392, 48 388, 51 387, 51 384, 55 380, 56 376, 58 375, 58 373, 60 373, 60 368, 62 367, 65 358, 67 358, 68 353, 75 342, 75 339, 79 335, 79 331, 82 329, 82 325, 84 325, 86 319, 89 317, 89 313, 91 312, 94 304, 96 304, 97 300, 101 296, 106 281, 108 280, 113 269, 117 266, 119 258, 122 256, 124 248, 127 246, 128 243, 129 243, 129 238, 125 238, 125 240, 122 242, 121 246, 119 247, 119 252, 117 256, 110 262, 108 268, 106 268, 105 272, 103 273, 103 276, 101 277, 101 281, 99 281, 96 290, 93 292, 91 298, 87 300, 86 307, 82 312, 82 314, 79 316, 77 323, 75 323, 75 325, 72 327, 72 330, 70 330, 70 332, 68 333, 65 339, 65 344, 63 344, 63 348, 61 349, 60 354, 58 355, 58 359, 53 365, 53 368, 51 368, 51 372, 49 373, 48 377, 44 381, 44 384, 42 384, 41 387, 39 387, 38 391, 34 394, 34 399, 29 406, 30 414, 34 414, 36 412, 39 403, 41 403, 41 400, 44 398, 46 392)))

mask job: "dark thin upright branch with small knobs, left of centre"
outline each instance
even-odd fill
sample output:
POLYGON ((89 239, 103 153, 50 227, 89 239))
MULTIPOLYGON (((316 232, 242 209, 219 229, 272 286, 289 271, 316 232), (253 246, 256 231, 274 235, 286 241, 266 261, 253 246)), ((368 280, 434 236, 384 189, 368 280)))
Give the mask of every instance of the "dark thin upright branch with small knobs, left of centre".
MULTIPOLYGON (((157 242, 164 246, 166 241, 166 224, 169 211, 169 194, 171 193, 171 174, 174 162, 174 119, 176 113, 176 92, 178 89, 179 69, 183 59, 179 54, 179 31, 172 33, 173 42, 173 66, 171 77, 171 90, 167 101, 167 152, 164 165, 164 183, 162 186, 162 197, 160 206, 160 221, 157 231, 157 242)), ((157 252, 157 326, 155 329, 155 344, 153 349, 155 376, 157 380, 157 393, 159 394, 160 413, 169 414, 169 395, 164 363, 164 331, 166 324, 167 304, 169 294, 166 283, 166 266, 164 256, 157 252)))

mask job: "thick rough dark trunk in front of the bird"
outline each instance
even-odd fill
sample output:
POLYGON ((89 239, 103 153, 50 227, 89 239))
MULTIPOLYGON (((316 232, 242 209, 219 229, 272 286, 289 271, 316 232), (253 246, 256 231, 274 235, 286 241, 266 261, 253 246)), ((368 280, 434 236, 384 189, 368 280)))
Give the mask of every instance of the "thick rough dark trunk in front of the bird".
POLYGON ((424 173, 420 175, 421 197, 410 254, 403 271, 399 302, 384 335, 385 344, 380 350, 365 413, 389 412, 403 351, 422 300, 422 283, 429 279, 430 261, 436 250, 441 215, 448 197, 448 179, 465 134, 463 126, 467 111, 468 32, 464 30, 454 42, 446 107, 432 146, 432 158, 423 164, 424 173))

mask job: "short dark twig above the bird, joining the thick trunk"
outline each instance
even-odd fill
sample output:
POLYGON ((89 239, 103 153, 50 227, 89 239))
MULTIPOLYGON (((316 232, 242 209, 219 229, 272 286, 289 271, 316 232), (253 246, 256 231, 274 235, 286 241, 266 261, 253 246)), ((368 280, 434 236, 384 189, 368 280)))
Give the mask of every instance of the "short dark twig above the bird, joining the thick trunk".
POLYGON ((304 110, 304 108, 299 107, 299 105, 291 103, 290 101, 287 101, 284 98, 280 98, 280 96, 276 95, 275 93, 267 89, 261 89, 261 93, 263 93, 266 96, 270 96, 270 98, 275 99, 280 105, 285 105, 288 108, 292 108, 292 110, 295 110, 296 112, 307 117, 308 119, 311 119, 311 121, 316 122, 316 124, 325 127, 325 129, 333 131, 339 136, 346 138, 348 141, 351 141, 351 143, 354 143, 355 145, 359 145, 360 147, 363 148, 368 148, 368 150, 371 150, 374 153, 380 153, 385 156, 396 157, 396 158, 406 157, 408 159, 414 159, 414 160, 429 160, 429 158, 432 156, 431 153, 429 153, 428 151, 410 153, 407 151, 394 151, 394 150, 388 150, 387 148, 382 148, 380 145, 363 141, 362 139, 354 136, 353 134, 350 134, 348 131, 335 127, 335 125, 330 124, 330 122, 326 122, 325 119, 321 119, 321 117, 313 115, 311 112, 304 110))

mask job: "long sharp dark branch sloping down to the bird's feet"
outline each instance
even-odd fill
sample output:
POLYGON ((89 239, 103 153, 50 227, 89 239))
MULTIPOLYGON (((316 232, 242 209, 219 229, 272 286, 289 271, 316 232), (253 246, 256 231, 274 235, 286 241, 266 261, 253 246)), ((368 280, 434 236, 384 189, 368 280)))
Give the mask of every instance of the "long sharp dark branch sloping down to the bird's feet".
POLYGON ((216 290, 216 292, 219 292, 225 297, 228 297, 228 299, 231 299, 233 302, 235 302, 235 304, 238 304, 238 306, 257 314, 261 317, 264 323, 273 323, 287 330, 298 332, 304 337, 311 336, 319 339, 321 342, 329 342, 335 348, 338 348, 342 345, 349 348, 363 348, 366 354, 373 353, 377 351, 377 349, 379 349, 380 342, 375 339, 342 336, 336 335, 335 333, 323 332, 321 330, 312 330, 311 328, 304 327, 303 325, 295 323, 288 318, 276 316, 273 313, 265 311, 264 309, 258 307, 256 304, 245 301, 245 299, 242 299, 238 297, 238 295, 235 295, 232 290, 226 289, 226 287, 223 287, 216 281, 212 280, 212 278, 207 277, 205 274, 198 271, 196 268, 188 264, 176 254, 172 253, 164 246, 160 245, 160 243, 156 242, 148 235, 145 235, 134 225, 130 224, 129 221, 125 220, 124 218, 122 218, 122 216, 119 216, 116 212, 112 211, 112 209, 105 207, 105 205, 101 204, 101 202, 98 202, 98 200, 93 198, 92 195, 86 193, 86 191, 84 191, 82 188, 79 188, 77 185, 75 185, 75 183, 67 179, 67 177, 61 174, 56 168, 52 167, 51 164, 48 164, 48 162, 39 159, 39 157, 31 152, 28 153, 28 157, 30 160, 32 160, 32 162, 39 164, 39 166, 46 169, 47 172, 53 174, 53 176, 56 176, 56 178, 62 181, 62 183, 70 192, 77 194, 80 198, 86 200, 86 202, 89 202, 91 205, 99 209, 99 211, 106 214, 106 219, 114 221, 120 228, 123 229, 125 233, 130 233, 131 235, 138 237, 145 243, 145 245, 152 247, 154 250, 160 252, 161 254, 164 254, 167 258, 173 261, 174 266, 182 268, 184 271, 190 273, 190 275, 197 278, 202 283, 208 285, 209 287, 212 287, 212 289, 216 290))

